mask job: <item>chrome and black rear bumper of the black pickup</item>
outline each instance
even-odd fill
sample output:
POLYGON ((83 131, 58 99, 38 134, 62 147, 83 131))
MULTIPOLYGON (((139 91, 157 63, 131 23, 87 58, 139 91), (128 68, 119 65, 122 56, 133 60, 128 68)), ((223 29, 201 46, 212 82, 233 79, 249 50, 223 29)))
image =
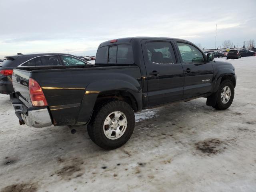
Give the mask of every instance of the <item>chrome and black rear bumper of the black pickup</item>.
POLYGON ((10 94, 10 101, 15 110, 20 124, 26 124, 30 127, 42 128, 52 125, 52 120, 47 107, 30 107, 27 108, 15 93, 10 94))

